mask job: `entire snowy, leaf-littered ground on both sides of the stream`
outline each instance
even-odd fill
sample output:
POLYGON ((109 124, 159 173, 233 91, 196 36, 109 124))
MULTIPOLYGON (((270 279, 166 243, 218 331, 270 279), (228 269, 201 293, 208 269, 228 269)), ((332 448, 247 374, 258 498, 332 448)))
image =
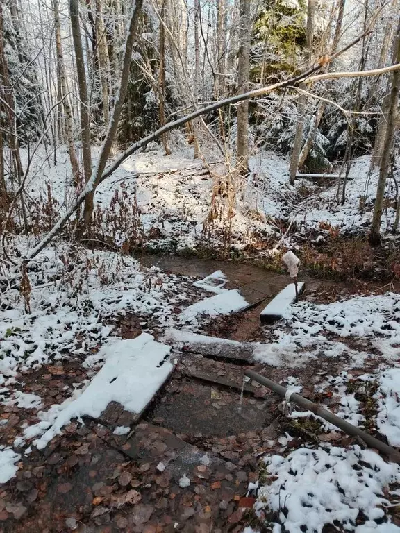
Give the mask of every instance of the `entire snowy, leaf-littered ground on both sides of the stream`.
MULTIPOLYGON (((72 201, 61 155, 33 164, 38 233, 72 201)), ((400 531, 398 464, 244 381, 253 369, 400 446, 397 255, 367 245, 367 159, 340 207, 335 184, 289 187, 274 154, 251 166, 229 242, 222 219, 203 231, 203 164, 151 151, 99 189, 85 244, 103 249, 60 239, 22 290, 5 263, 0 532, 400 531), (306 293, 261 325, 287 246, 306 293)), ((34 244, 10 236, 8 253, 34 244)))

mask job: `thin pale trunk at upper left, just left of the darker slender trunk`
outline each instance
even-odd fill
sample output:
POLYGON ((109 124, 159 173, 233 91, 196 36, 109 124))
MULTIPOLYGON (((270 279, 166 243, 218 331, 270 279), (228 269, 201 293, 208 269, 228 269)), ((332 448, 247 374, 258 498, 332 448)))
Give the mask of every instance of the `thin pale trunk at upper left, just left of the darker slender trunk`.
POLYGON ((63 108, 65 111, 65 135, 67 137, 69 161, 72 167, 72 179, 74 185, 79 185, 79 164, 78 156, 76 155, 74 144, 74 128, 72 122, 72 109, 69 104, 69 94, 67 87, 67 74, 65 71, 65 62, 63 56, 63 47, 61 45, 61 26, 60 26, 60 12, 58 10, 58 0, 53 0, 53 12, 54 12, 54 30, 56 33, 56 53, 57 53, 57 75, 58 75, 58 89, 60 90, 60 96, 63 98, 63 108))

